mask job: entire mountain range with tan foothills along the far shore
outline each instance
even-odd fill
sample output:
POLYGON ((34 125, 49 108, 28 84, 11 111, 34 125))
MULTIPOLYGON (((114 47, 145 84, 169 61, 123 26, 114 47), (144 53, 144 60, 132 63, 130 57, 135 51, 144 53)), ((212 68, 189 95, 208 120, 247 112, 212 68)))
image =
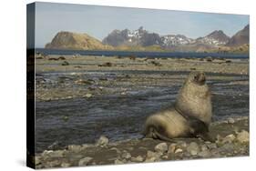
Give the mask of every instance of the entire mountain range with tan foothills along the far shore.
POLYGON ((120 51, 158 51, 158 52, 213 52, 249 53, 249 29, 246 25, 235 35, 229 37, 221 30, 196 39, 186 35, 159 35, 149 33, 143 27, 130 31, 113 30, 102 42, 97 38, 67 31, 58 32, 46 44, 49 49, 70 50, 120 50, 120 51))

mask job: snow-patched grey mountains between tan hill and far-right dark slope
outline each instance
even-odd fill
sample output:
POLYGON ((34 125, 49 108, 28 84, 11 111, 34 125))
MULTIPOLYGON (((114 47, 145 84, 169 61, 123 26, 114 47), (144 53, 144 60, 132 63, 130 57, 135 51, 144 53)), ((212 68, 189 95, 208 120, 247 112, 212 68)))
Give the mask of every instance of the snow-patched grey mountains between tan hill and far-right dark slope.
POLYGON ((182 51, 189 50, 197 51, 198 49, 215 48, 219 45, 226 45, 230 37, 225 35, 223 31, 216 30, 209 35, 192 39, 186 35, 159 35, 157 33, 149 33, 143 27, 139 27, 138 30, 130 31, 114 30, 107 37, 103 39, 103 44, 113 46, 148 46, 159 45, 166 50, 182 51))

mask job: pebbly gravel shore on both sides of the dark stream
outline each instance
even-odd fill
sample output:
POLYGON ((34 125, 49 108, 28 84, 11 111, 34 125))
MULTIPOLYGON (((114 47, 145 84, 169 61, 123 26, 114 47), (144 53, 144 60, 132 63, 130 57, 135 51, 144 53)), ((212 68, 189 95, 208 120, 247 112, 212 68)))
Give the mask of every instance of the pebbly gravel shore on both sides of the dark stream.
MULTIPOLYGON (((207 79, 217 86, 223 81, 249 85, 249 59, 36 55, 36 102, 77 98, 87 101, 102 96, 133 96, 156 87, 179 87, 192 70, 206 72, 207 79)), ((232 99, 241 97, 235 95, 232 99)), ((68 119, 63 116, 63 123, 68 119)), ((211 123, 210 135, 216 137, 213 143, 198 138, 179 138, 173 142, 132 138, 111 142, 102 135, 94 144, 53 144, 30 156, 29 161, 36 168, 49 168, 249 156, 249 132, 249 116, 229 117, 211 123)))

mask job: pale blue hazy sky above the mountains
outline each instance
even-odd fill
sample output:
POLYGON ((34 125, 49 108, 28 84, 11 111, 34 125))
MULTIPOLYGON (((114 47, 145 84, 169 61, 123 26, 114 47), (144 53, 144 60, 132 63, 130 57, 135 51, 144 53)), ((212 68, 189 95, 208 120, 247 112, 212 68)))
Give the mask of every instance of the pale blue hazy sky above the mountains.
POLYGON ((231 36, 248 24, 249 15, 36 2, 35 44, 44 47, 59 31, 87 33, 102 40, 114 29, 143 26, 150 33, 197 38, 214 30, 231 36))

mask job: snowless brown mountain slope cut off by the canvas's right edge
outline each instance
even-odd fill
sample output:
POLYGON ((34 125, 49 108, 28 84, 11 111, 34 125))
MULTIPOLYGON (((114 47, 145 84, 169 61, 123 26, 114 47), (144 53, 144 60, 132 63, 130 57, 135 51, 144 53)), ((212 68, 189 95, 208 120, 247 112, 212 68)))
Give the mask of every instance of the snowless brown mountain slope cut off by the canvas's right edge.
POLYGON ((226 45, 240 46, 244 44, 249 44, 249 29, 250 25, 246 25, 243 29, 241 29, 241 31, 233 35, 226 45))

